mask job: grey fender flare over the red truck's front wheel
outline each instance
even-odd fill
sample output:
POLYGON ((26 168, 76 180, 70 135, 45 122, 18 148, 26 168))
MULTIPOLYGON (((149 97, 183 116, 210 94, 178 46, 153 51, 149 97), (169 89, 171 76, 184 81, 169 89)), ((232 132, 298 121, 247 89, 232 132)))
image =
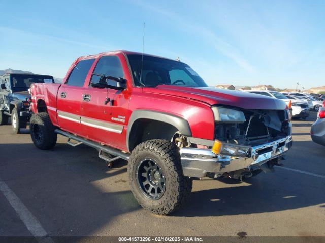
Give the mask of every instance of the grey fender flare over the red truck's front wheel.
POLYGON ((128 151, 131 151, 129 148, 130 143, 130 133, 132 126, 138 119, 151 119, 157 121, 163 121, 164 123, 170 124, 178 129, 178 131, 185 136, 192 136, 192 132, 188 121, 182 117, 175 116, 169 113, 153 111, 153 110, 135 110, 132 112, 131 117, 128 121, 127 132, 126 132, 126 146, 128 151))

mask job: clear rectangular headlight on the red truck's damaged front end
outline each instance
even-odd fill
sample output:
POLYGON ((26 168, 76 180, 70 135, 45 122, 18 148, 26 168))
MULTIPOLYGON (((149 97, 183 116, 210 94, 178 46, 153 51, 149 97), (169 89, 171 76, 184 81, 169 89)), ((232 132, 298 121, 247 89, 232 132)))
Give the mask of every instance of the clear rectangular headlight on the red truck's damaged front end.
POLYGON ((219 123, 244 123, 245 115, 242 111, 224 107, 212 107, 214 120, 219 123))

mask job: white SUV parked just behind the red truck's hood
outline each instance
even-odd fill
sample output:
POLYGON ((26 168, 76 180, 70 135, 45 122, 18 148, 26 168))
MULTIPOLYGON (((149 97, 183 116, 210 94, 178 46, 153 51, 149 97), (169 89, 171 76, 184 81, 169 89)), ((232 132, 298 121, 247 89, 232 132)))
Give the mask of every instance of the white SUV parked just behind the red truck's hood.
POLYGON ((293 118, 303 118, 306 119, 309 116, 309 107, 308 103, 304 99, 294 99, 294 98, 288 98, 285 95, 283 95, 280 92, 277 91, 256 91, 256 90, 244 90, 245 92, 259 94, 259 95, 265 95, 269 97, 273 97, 275 99, 283 100, 287 106, 289 106, 289 102, 291 100, 291 109, 292 109, 292 117, 293 118))

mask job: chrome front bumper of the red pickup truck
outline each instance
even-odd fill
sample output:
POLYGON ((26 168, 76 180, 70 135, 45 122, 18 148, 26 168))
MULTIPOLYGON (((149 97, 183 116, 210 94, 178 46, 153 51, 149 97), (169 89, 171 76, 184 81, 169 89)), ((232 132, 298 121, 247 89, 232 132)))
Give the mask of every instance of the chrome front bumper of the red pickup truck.
POLYGON ((259 166, 286 153, 292 145, 288 136, 273 142, 250 147, 247 157, 232 157, 214 154, 210 149, 181 148, 181 163, 184 176, 202 178, 207 173, 222 175, 225 172, 259 166))

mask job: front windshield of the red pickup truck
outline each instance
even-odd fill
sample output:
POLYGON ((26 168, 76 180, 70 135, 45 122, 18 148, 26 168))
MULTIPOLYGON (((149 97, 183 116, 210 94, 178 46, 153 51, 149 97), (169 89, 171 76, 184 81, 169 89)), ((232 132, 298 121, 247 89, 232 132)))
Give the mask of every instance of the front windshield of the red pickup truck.
POLYGON ((142 62, 142 55, 139 54, 129 54, 127 57, 136 86, 208 87, 199 74, 185 63, 147 55, 143 56, 142 62))

